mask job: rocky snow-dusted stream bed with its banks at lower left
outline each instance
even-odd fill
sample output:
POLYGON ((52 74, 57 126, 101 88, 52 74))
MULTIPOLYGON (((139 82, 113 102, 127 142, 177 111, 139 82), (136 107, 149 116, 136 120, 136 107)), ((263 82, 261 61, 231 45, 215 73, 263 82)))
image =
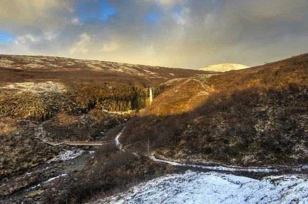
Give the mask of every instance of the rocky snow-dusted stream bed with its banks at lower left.
MULTIPOLYGON (((106 134, 112 129, 106 128, 104 132, 100 132, 93 138, 93 141, 104 140, 106 134)), ((3 194, 3 197, 0 198, 0 202, 31 203, 40 200, 41 194, 52 183, 65 180, 66 176, 72 172, 81 171, 97 149, 99 149, 97 146, 89 149, 64 146, 59 155, 48 160, 45 164, 2 179, 0 193, 3 194)))

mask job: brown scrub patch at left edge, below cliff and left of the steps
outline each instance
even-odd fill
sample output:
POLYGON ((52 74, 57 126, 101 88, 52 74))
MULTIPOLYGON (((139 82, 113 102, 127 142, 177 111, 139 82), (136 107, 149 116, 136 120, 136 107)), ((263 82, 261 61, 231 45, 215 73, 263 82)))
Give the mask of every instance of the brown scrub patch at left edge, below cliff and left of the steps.
POLYGON ((35 131, 12 118, 0 119, 0 180, 3 176, 36 166, 59 152, 34 139, 35 131))

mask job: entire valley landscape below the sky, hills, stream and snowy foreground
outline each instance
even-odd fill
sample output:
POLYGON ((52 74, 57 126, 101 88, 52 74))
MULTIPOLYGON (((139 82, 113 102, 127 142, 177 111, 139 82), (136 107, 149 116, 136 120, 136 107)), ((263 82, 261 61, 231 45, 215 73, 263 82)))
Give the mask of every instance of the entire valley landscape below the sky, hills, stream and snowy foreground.
POLYGON ((307 202, 308 54, 226 72, 0 55, 0 74, 1 202, 307 202))

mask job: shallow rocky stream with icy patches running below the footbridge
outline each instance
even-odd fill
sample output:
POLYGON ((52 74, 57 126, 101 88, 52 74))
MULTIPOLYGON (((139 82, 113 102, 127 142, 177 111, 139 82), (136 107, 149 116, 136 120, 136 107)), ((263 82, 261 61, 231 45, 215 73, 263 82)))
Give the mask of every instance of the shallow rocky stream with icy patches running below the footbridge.
MULTIPOLYGON (((106 129, 95 137, 93 141, 104 140, 106 134, 112 130, 113 128, 106 129)), ((20 180, 25 180, 26 182, 31 176, 34 177, 39 174, 38 177, 41 182, 31 183, 30 186, 5 196, 3 198, 4 201, 20 203, 23 197, 40 197, 41 193, 44 192, 46 187, 52 182, 56 182, 57 179, 65 179, 65 176, 71 172, 82 170, 87 162, 91 160, 93 153, 99 148, 99 146, 92 146, 89 149, 71 147, 69 150, 65 150, 53 159, 50 159, 45 164, 31 168, 24 174, 9 178, 9 183, 18 182, 20 180)), ((0 202, 1 201, 0 199, 0 202)))

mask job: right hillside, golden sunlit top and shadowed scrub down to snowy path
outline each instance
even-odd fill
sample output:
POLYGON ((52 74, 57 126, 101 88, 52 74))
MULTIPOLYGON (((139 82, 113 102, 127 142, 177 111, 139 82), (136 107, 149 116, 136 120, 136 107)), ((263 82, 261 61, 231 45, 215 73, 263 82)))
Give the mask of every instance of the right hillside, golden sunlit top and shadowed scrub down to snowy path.
POLYGON ((185 79, 130 120, 121 142, 143 151, 149 138, 157 157, 179 162, 306 165, 307 76, 303 54, 185 79))

